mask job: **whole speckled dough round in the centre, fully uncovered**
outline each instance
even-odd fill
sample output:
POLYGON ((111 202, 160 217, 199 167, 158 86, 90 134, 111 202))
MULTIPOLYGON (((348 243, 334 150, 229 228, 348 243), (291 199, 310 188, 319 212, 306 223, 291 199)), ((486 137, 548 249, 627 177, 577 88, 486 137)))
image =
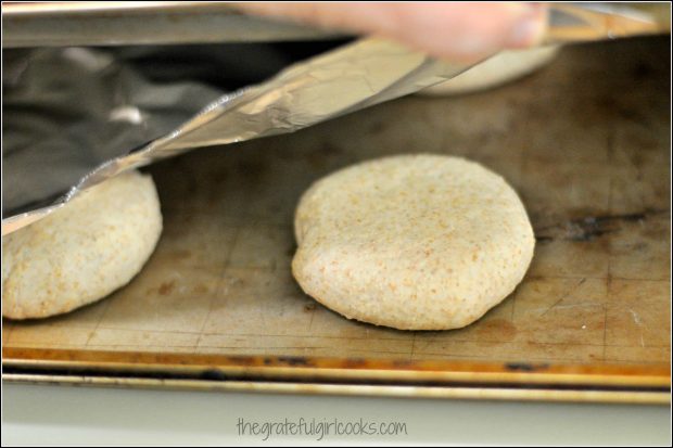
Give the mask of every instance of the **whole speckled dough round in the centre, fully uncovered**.
POLYGON ((535 245, 501 177, 440 155, 336 171, 304 193, 294 226, 292 272, 306 294, 399 330, 474 322, 515 290, 535 245))

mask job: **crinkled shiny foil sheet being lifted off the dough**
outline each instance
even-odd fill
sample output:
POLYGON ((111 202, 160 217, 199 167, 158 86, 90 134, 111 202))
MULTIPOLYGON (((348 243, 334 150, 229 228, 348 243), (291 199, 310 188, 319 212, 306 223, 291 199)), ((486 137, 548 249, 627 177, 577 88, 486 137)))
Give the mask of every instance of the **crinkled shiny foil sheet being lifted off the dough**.
MULTIPOLYGON (((468 68, 369 38, 226 92, 189 77, 149 80, 119 54, 5 51, 3 234, 128 169, 196 148, 292 132, 468 68)), ((218 69, 227 71, 223 65, 218 69)))

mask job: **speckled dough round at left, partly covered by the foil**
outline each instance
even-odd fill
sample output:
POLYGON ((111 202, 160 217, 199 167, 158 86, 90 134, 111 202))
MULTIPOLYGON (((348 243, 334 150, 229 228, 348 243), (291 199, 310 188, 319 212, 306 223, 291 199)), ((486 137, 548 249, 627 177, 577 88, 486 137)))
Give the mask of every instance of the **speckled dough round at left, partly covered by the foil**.
POLYGON ((162 231, 150 176, 131 171, 82 192, 2 239, 2 316, 45 318, 128 283, 162 231))

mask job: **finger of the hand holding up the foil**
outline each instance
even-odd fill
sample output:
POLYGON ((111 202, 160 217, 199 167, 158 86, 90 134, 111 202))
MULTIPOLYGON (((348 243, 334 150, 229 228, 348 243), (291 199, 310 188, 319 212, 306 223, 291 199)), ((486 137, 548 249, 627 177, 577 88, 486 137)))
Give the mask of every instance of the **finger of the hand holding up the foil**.
POLYGON ((470 62, 537 42, 546 10, 535 3, 237 3, 255 14, 397 39, 435 56, 470 62))

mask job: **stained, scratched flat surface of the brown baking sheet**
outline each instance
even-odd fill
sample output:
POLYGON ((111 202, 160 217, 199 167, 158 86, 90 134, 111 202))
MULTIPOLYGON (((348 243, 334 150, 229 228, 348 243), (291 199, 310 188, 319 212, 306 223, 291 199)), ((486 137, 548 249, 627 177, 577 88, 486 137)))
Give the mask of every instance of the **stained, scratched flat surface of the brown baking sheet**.
POLYGON ((536 363, 633 368, 670 385, 669 87, 668 37, 579 46, 487 92, 407 97, 293 135, 161 162, 149 170, 165 230, 142 272, 73 313, 5 320, 5 361, 64 350, 72 359, 119 353, 113 358, 131 364, 149 353, 182 364, 196 355, 410 369, 433 360, 536 363), (466 329, 348 321, 304 295, 290 273, 301 193, 343 166, 409 152, 465 155, 500 172, 535 228, 524 281, 466 329))

